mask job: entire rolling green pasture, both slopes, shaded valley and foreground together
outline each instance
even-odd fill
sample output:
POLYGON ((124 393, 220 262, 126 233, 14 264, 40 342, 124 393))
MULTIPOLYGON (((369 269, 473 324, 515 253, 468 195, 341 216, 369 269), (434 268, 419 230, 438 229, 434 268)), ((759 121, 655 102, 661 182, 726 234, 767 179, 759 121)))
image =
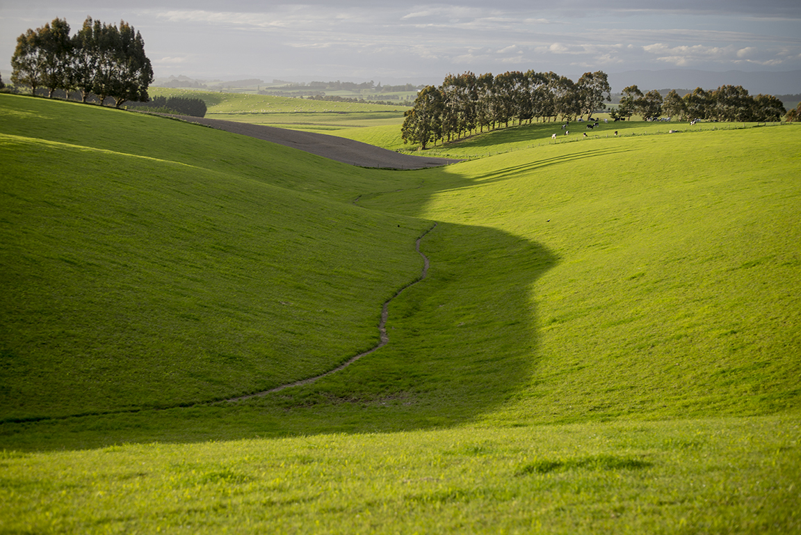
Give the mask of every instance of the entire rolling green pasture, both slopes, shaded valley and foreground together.
POLYGON ((799 127, 560 126, 385 171, 0 95, 0 532, 801 529, 799 127))

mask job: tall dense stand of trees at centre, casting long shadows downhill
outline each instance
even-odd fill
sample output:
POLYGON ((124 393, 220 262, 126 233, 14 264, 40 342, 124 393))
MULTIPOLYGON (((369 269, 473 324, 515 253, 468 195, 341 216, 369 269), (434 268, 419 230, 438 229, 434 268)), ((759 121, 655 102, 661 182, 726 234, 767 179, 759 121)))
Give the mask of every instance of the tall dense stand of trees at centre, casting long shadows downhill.
POLYGON ((426 86, 404 114, 404 143, 424 150, 429 143, 461 138, 475 130, 558 117, 574 119, 606 107, 611 88, 606 73, 585 73, 578 82, 553 72, 449 74, 441 86, 426 86))

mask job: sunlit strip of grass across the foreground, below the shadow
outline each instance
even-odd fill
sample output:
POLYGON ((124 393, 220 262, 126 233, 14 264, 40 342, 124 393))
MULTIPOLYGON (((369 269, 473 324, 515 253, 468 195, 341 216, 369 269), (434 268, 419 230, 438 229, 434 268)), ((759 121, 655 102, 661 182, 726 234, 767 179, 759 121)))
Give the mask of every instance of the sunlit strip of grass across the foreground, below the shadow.
POLYGON ((8 533, 793 533, 798 420, 679 420, 14 454, 8 533))

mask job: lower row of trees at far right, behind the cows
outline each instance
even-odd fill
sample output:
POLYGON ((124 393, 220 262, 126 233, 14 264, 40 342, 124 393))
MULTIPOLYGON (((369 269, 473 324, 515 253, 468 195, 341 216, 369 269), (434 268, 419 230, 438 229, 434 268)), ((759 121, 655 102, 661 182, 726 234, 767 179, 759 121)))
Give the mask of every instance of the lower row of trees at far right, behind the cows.
POLYGON ((765 122, 779 121, 787 113, 784 103, 773 95, 748 94, 743 86, 720 86, 706 91, 701 87, 680 97, 670 90, 662 98, 659 91, 648 91, 643 95, 637 86, 623 90, 620 106, 612 117, 630 118, 642 115, 644 119, 658 119, 665 115, 679 120, 713 120, 765 122))

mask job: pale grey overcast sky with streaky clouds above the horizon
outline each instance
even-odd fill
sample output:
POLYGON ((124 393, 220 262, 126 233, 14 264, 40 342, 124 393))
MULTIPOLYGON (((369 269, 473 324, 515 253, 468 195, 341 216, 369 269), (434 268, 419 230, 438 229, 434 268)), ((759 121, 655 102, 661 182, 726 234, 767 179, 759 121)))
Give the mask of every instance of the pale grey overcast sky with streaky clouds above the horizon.
POLYGON ((28 28, 58 17, 74 33, 87 15, 139 30, 156 77, 801 69, 799 0, 0 0, 0 70, 28 28))

